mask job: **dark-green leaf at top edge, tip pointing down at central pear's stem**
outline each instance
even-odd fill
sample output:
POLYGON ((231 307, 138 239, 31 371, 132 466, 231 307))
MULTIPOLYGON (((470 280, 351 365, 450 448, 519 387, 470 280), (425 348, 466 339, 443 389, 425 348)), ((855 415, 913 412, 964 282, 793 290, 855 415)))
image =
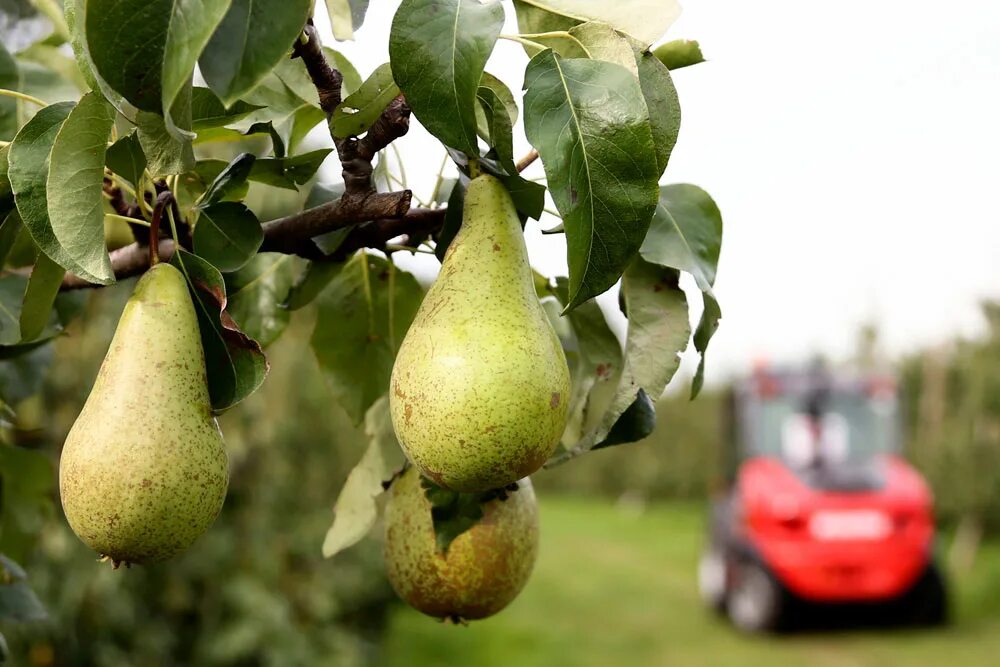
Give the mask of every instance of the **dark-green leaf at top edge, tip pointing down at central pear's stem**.
POLYGON ((476 92, 503 26, 496 0, 403 0, 389 60, 413 114, 446 146, 478 156, 476 92))

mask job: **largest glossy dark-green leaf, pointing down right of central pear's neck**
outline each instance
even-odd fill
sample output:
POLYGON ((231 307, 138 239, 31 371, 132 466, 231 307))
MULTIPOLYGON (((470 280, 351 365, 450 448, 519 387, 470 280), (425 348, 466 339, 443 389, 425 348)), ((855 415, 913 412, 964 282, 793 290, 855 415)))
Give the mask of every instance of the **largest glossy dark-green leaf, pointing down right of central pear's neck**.
POLYGON ((611 287, 656 208, 649 112, 624 67, 539 53, 525 72, 524 125, 566 228, 567 310, 611 287))

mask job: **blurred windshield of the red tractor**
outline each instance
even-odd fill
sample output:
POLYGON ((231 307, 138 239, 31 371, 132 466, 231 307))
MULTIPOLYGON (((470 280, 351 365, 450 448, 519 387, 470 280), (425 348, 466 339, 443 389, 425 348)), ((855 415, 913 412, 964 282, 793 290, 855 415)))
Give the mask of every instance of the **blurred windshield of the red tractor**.
POLYGON ((863 462, 894 451, 896 402, 892 396, 831 390, 821 401, 803 393, 755 397, 744 415, 748 453, 793 464, 863 462))

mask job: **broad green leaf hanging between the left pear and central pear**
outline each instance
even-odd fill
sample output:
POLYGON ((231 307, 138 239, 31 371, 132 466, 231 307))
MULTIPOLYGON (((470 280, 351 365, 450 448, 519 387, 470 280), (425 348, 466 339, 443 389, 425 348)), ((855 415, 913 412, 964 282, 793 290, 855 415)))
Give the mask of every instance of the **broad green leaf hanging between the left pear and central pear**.
POLYGON ((355 255, 318 300, 311 344, 334 398, 357 424, 389 386, 423 290, 390 262, 355 255))

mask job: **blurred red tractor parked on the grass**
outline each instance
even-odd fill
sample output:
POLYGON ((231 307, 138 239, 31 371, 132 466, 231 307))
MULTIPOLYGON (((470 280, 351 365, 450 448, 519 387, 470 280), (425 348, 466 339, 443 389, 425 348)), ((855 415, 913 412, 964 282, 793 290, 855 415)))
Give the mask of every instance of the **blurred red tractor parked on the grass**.
POLYGON ((782 630, 846 608, 945 621, 933 500, 899 454, 896 398, 891 377, 819 367, 759 370, 736 385, 699 585, 738 628, 782 630))

